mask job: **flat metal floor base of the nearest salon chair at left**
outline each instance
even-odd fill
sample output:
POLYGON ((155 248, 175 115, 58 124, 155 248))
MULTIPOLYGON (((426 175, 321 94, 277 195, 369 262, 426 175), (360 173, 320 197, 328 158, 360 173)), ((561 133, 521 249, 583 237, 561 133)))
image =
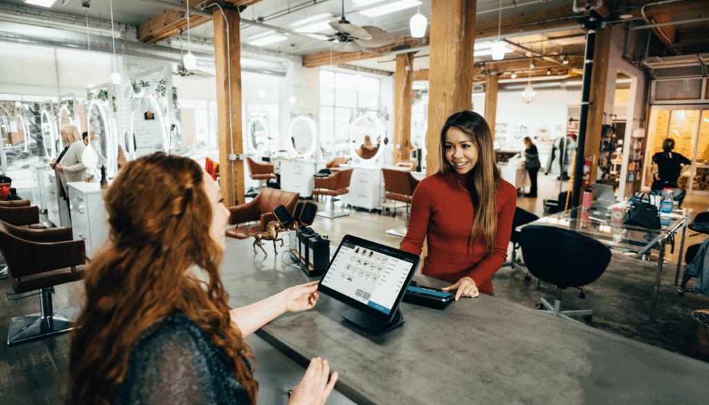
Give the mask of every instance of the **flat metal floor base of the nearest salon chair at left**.
POLYGON ((7 334, 7 345, 69 332, 74 328, 74 319, 79 311, 81 311, 79 306, 72 306, 57 311, 47 318, 43 318, 40 313, 12 318, 7 334))

